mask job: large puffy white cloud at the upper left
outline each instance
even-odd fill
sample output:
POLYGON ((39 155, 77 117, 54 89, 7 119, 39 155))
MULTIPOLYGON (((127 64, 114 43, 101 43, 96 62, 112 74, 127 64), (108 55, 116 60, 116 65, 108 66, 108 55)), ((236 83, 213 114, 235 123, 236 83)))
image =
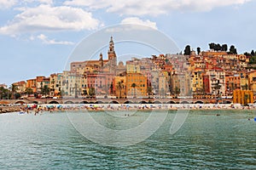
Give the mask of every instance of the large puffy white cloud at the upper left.
POLYGON ((16 36, 37 31, 82 31, 100 26, 100 21, 82 8, 41 4, 20 10, 21 13, 15 15, 6 26, 0 27, 0 34, 16 36))

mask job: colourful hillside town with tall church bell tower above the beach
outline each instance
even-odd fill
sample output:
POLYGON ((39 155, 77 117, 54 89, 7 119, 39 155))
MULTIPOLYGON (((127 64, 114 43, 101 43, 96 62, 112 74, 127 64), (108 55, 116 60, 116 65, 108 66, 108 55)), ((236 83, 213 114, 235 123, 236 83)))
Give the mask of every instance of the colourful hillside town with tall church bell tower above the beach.
POLYGON ((150 58, 117 61, 113 37, 108 59, 74 61, 70 71, 0 84, 0 99, 24 98, 194 98, 233 99, 247 105, 256 97, 253 54, 236 54, 236 48, 215 43, 210 49, 184 54, 159 54, 150 58), (125 62, 125 63, 124 63, 125 62))

